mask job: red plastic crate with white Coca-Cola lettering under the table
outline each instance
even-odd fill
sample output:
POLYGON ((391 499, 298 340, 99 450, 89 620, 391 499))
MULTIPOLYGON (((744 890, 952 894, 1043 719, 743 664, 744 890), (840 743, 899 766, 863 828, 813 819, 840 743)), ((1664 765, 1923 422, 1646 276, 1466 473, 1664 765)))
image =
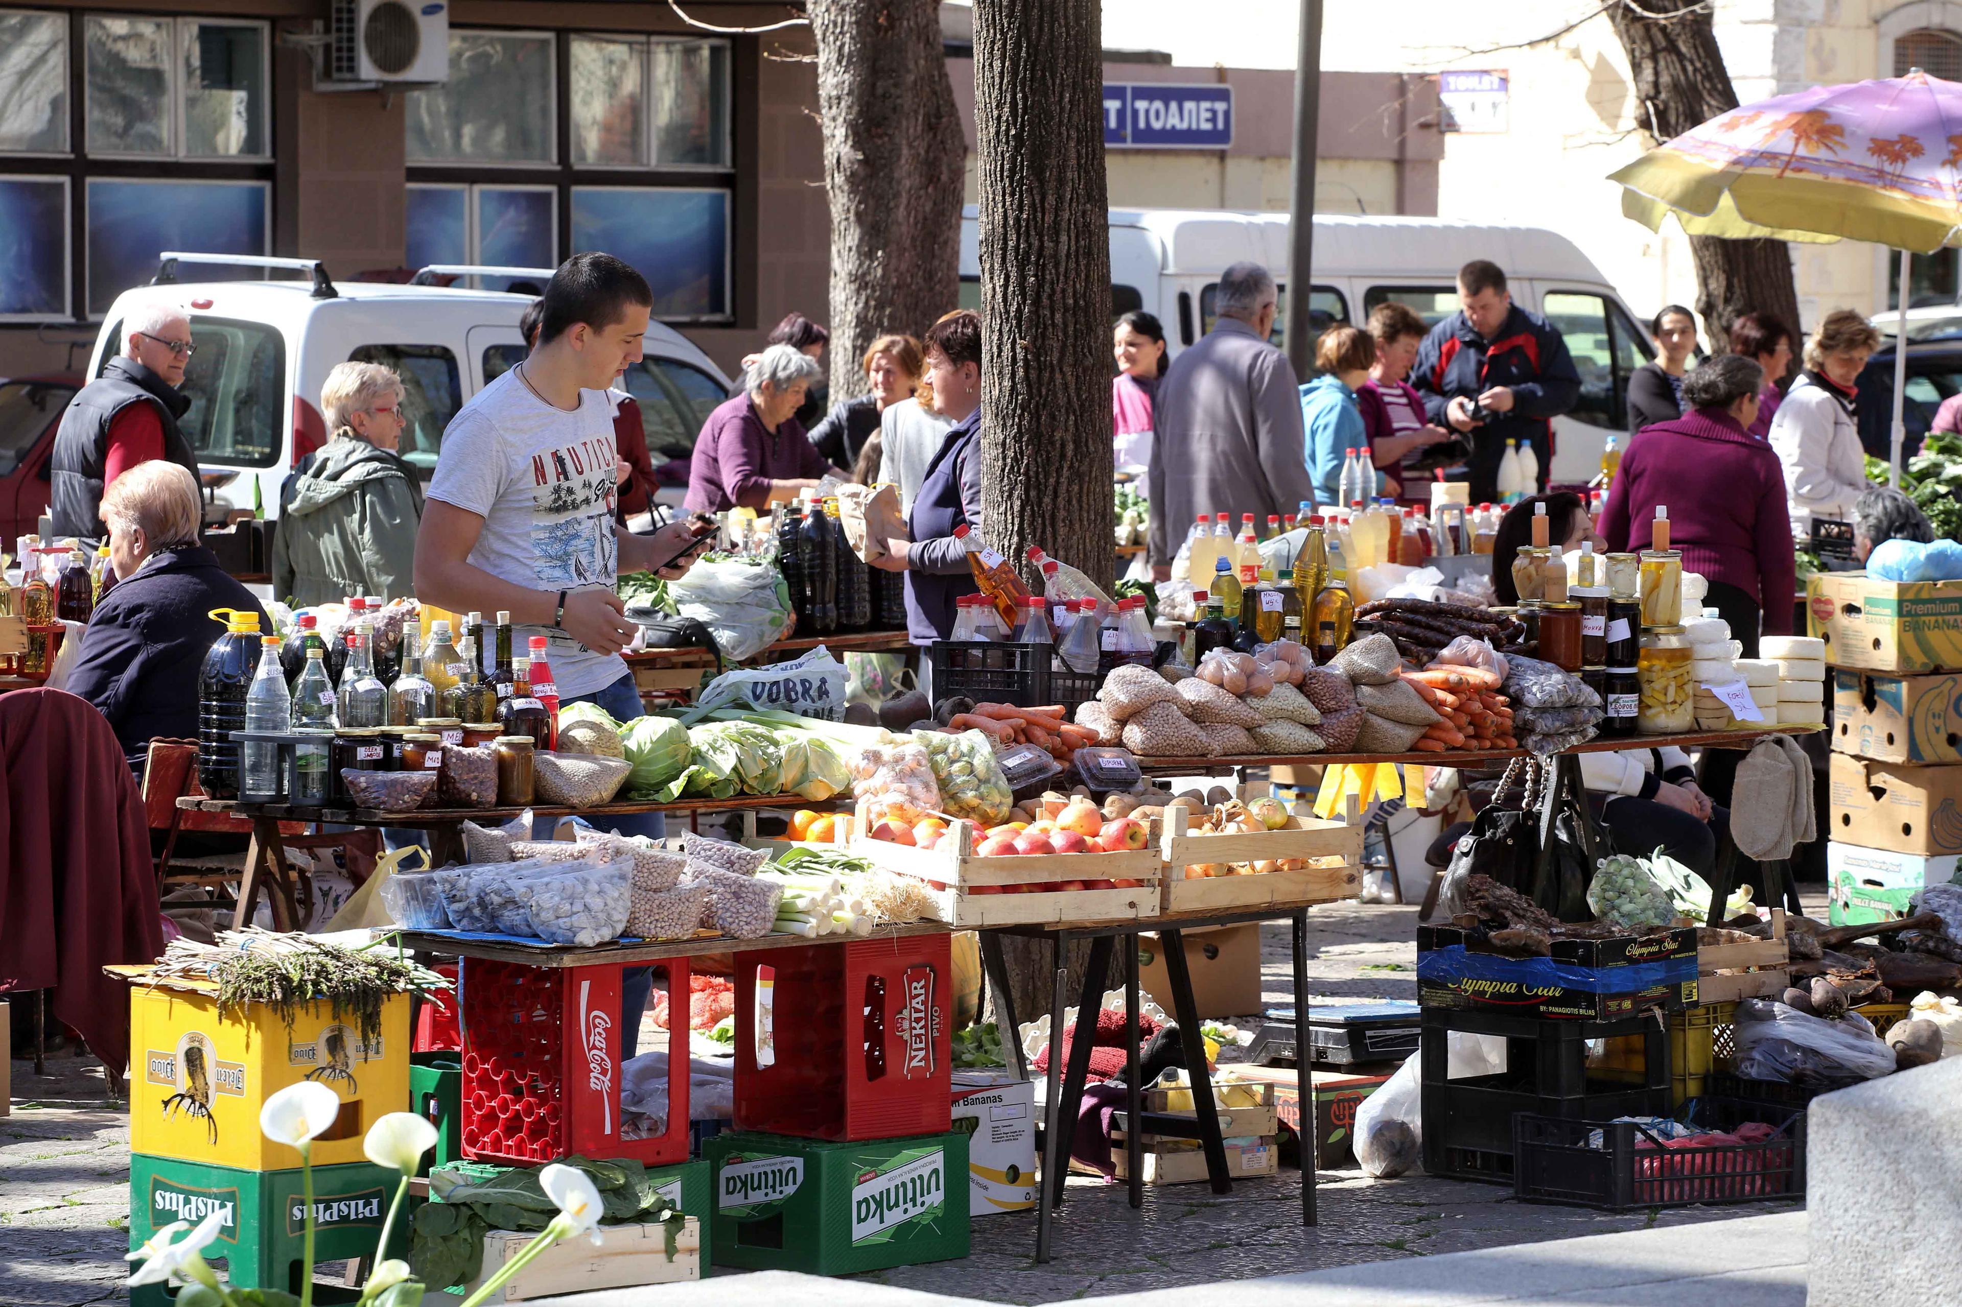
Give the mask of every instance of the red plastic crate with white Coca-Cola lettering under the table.
MULTIPOLYGON (((689 1160, 689 1028, 669 1022, 665 1115, 622 1103, 622 964, 528 967, 465 958, 463 1156, 553 1162, 571 1154, 647 1166, 689 1160)), ((689 993, 685 958, 655 987, 689 993)), ((653 1079, 659 1083, 659 1077, 653 1079)))

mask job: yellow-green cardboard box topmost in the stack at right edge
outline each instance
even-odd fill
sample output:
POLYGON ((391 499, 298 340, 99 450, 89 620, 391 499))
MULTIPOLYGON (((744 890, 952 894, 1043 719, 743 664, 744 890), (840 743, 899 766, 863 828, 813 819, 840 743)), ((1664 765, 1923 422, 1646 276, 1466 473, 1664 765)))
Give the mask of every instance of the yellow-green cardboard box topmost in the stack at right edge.
POLYGON ((1805 583, 1805 628, 1827 642, 1827 661, 1834 667, 1962 667, 1962 581, 1819 571, 1805 583))

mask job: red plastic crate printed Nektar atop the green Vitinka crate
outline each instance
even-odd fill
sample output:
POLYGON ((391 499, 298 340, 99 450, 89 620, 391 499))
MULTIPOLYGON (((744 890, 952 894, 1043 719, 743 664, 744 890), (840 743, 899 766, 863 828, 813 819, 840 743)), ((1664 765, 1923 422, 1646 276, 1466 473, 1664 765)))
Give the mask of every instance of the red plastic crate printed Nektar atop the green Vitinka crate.
POLYGON ((736 954, 736 1128, 828 1140, 948 1130, 950 938, 736 954))

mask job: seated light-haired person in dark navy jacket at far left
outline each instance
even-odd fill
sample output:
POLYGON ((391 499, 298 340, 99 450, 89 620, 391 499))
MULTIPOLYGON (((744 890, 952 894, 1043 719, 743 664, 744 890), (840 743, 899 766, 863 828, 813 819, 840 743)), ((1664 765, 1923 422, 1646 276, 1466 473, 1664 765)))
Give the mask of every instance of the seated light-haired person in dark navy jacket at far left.
POLYGON ((196 740, 198 671, 224 624, 214 608, 259 614, 251 593, 198 544, 198 483, 177 463, 137 463, 102 495, 116 587, 82 632, 69 691, 110 720, 137 773, 151 738, 196 740))

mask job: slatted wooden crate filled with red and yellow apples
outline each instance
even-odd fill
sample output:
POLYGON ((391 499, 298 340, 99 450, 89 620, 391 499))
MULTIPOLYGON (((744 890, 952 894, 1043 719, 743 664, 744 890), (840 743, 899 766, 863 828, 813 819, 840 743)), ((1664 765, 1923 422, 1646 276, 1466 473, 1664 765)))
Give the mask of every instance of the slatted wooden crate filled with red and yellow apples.
POLYGON ((977 822, 926 814, 853 822, 853 852, 926 881, 959 928, 1154 916, 1163 863, 1150 818, 1107 818, 1095 803, 1050 803, 1036 820, 977 822))

